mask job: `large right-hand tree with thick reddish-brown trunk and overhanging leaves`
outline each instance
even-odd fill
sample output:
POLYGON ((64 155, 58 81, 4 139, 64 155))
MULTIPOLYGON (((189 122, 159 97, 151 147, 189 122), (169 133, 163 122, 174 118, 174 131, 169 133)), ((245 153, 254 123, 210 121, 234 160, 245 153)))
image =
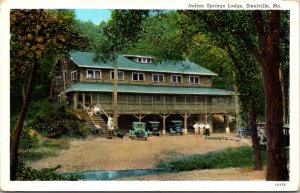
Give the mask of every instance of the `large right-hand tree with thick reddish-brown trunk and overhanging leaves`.
POLYGON ((236 44, 244 46, 262 66, 268 139, 266 178, 267 180, 288 180, 283 144, 283 102, 279 76, 280 11, 263 13, 262 11, 207 11, 192 15, 197 15, 193 19, 199 18, 196 21, 193 20, 194 23, 205 24, 202 25, 203 28, 199 28, 199 31, 206 30, 207 35, 223 45, 233 43, 235 48, 236 44), (230 42, 230 40, 233 41, 230 42))

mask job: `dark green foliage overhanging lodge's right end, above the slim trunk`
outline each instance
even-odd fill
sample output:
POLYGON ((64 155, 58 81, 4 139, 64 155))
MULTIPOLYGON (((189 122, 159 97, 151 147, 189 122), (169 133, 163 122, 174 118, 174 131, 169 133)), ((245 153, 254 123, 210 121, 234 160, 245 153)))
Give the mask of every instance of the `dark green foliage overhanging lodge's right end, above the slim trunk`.
MULTIPOLYGON (((240 93, 241 113, 249 112, 249 101, 255 100, 258 114, 264 116, 262 70, 248 44, 257 44, 251 11, 179 11, 182 36, 188 44, 205 34, 208 44, 223 52, 226 79, 234 80, 240 93), (227 58, 227 61, 224 60, 227 58)), ((222 69, 222 68, 221 68, 222 69)), ((244 120, 247 121, 247 120, 244 120)))

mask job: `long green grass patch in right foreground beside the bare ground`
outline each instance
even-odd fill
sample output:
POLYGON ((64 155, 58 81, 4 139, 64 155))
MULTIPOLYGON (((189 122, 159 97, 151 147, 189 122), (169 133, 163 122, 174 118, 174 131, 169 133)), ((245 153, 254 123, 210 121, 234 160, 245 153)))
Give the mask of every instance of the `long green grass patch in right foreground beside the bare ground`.
MULTIPOLYGON (((267 153, 265 150, 262 150, 261 153, 262 162, 266 164, 267 153)), ((252 165, 252 147, 243 146, 238 148, 226 148, 206 154, 171 156, 166 161, 161 161, 156 164, 156 168, 173 171, 189 171, 196 169, 249 167, 252 165)))

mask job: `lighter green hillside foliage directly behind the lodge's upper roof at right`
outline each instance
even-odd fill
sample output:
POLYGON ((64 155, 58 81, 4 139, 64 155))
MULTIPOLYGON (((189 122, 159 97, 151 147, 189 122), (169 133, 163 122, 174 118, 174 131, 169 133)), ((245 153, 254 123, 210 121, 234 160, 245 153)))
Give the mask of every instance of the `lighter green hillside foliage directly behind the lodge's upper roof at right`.
POLYGON ((143 23, 143 33, 138 42, 125 49, 124 53, 150 55, 156 61, 189 59, 219 74, 213 79, 214 87, 232 89, 232 61, 227 53, 209 42, 203 34, 197 33, 187 39, 182 35, 185 33, 182 20, 184 17, 175 11, 150 16, 143 23))

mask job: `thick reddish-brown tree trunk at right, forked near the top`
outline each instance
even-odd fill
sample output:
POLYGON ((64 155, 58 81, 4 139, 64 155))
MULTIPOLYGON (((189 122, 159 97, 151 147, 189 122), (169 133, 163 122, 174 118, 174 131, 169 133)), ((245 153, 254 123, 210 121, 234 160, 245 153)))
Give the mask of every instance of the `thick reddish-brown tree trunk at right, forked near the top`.
POLYGON ((258 29, 260 47, 256 57, 263 67, 266 96, 266 134, 268 140, 268 166, 266 179, 269 181, 289 180, 283 143, 283 99, 279 77, 279 11, 268 11, 267 27, 261 11, 253 16, 258 29))

